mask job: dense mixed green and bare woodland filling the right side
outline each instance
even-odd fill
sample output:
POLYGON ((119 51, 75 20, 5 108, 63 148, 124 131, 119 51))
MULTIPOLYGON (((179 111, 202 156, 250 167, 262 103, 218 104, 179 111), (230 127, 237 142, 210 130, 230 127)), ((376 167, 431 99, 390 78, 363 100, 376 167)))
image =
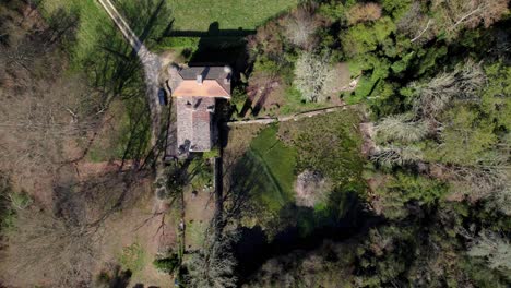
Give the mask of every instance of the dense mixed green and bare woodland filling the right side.
POLYGON ((337 61, 359 73, 341 97, 375 123, 359 196, 383 221, 268 260, 247 287, 510 284, 508 5, 308 2, 258 29, 253 73, 289 79, 306 101, 329 97, 337 61))

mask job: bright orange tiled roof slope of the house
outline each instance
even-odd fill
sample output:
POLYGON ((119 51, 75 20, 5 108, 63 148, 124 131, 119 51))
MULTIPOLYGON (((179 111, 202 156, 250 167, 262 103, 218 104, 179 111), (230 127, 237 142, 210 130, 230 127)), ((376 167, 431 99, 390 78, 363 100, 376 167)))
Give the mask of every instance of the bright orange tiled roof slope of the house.
POLYGON ((216 80, 204 80, 202 84, 197 83, 197 80, 185 80, 173 92, 174 97, 226 97, 230 98, 230 94, 222 87, 216 80))

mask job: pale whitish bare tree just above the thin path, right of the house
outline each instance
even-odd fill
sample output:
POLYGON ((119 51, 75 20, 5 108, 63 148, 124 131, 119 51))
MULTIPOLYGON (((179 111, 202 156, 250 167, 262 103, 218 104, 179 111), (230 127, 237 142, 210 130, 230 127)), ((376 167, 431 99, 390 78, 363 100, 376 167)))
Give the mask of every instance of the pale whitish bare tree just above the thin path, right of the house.
POLYGON ((324 100, 335 88, 335 70, 329 56, 302 52, 295 64, 294 84, 307 101, 324 100))

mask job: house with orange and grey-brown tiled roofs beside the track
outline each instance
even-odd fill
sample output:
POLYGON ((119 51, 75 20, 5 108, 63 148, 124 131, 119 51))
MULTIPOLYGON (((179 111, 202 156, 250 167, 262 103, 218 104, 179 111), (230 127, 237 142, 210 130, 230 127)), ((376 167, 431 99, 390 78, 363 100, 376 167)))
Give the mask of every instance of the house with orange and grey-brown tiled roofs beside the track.
POLYGON ((176 156, 211 151, 217 140, 216 99, 230 99, 230 68, 171 65, 168 72, 176 103, 176 156))

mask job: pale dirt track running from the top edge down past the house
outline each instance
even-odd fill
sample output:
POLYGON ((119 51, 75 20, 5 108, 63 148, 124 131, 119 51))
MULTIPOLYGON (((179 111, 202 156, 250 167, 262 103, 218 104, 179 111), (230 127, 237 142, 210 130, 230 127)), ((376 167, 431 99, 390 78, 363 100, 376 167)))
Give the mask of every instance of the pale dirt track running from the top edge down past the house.
POLYGON ((144 69, 145 85, 147 86, 146 97, 151 110, 151 145, 155 146, 159 132, 162 106, 158 100, 158 74, 162 69, 162 60, 152 53, 147 47, 139 39, 130 28, 122 15, 117 11, 110 0, 97 0, 111 17, 122 36, 130 43, 144 69))

